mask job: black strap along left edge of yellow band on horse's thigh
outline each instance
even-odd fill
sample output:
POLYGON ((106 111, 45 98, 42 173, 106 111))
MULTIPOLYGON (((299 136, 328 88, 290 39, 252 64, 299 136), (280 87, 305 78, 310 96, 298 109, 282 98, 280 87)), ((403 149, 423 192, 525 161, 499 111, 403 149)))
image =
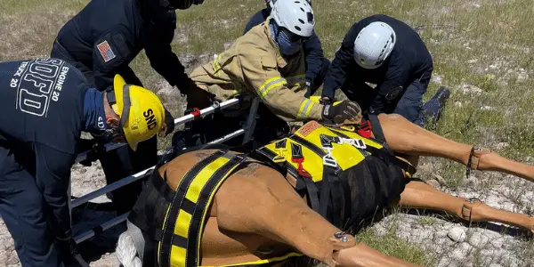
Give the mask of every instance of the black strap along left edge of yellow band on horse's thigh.
POLYGON ((212 163, 215 159, 223 157, 228 150, 217 150, 214 154, 199 161, 193 166, 190 171, 182 177, 180 185, 174 193, 173 201, 170 204, 169 212, 166 217, 166 223, 163 227, 163 235, 161 238, 161 247, 159 250, 159 265, 161 267, 170 267, 171 265, 171 248, 174 243, 174 227, 176 225, 176 218, 182 206, 185 194, 190 187, 193 179, 202 171, 207 165, 212 163))

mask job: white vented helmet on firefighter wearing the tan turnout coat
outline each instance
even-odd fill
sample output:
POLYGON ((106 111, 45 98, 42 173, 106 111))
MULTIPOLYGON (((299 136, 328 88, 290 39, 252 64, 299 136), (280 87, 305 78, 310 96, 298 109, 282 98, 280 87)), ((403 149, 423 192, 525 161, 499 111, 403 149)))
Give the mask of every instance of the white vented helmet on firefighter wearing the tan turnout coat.
POLYGON ((315 18, 307 0, 277 0, 272 6, 271 17, 279 27, 287 28, 297 36, 313 34, 315 18))

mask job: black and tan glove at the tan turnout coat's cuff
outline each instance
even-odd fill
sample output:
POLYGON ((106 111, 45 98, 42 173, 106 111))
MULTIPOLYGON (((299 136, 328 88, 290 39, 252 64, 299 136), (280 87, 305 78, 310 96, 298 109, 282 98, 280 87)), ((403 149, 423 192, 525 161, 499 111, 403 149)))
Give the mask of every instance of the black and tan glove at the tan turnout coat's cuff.
POLYGON ((358 103, 353 101, 342 101, 334 105, 325 105, 322 112, 325 120, 331 120, 335 124, 360 124, 361 109, 358 103))

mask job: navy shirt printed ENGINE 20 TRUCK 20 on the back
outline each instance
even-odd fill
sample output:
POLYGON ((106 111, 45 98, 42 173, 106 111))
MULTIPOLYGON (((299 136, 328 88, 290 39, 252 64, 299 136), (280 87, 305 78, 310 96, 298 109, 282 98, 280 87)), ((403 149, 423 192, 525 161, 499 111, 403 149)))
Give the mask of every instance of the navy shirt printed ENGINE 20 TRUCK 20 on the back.
POLYGON ((35 162, 28 172, 54 215, 51 229, 61 234, 70 230, 67 190, 86 90, 85 77, 64 61, 0 63, 0 139, 7 149, 34 152, 22 158, 35 162))

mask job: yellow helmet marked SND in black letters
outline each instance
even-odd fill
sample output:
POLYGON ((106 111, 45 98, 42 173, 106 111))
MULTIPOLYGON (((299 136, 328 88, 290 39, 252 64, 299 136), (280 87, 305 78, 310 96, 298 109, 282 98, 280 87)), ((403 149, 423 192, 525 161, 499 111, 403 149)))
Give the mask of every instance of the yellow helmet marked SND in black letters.
POLYGON ((126 85, 125 79, 116 75, 113 93, 109 96, 111 108, 120 117, 118 124, 132 150, 137 144, 158 134, 165 122, 165 109, 156 93, 137 85, 126 85), (113 96, 114 100, 113 101, 113 96))

